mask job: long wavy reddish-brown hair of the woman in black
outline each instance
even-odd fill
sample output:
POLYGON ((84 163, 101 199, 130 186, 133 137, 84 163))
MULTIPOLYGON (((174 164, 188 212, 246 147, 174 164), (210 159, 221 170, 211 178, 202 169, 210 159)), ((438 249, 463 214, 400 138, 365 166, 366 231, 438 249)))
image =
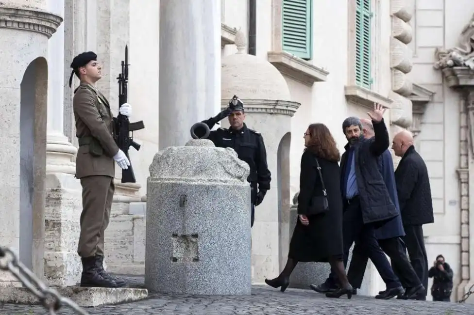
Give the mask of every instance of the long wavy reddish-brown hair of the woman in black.
POLYGON ((318 157, 329 161, 338 162, 340 153, 331 131, 324 124, 311 124, 308 126, 309 142, 306 150, 318 157))

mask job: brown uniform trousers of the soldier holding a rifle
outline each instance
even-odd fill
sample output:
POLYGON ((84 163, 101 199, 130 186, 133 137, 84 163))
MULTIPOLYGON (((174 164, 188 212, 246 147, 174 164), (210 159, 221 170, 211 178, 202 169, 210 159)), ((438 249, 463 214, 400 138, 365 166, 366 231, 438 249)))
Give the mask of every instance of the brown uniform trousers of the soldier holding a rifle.
POLYGON ((81 178, 81 233, 77 253, 81 257, 103 256, 104 231, 109 225, 114 197, 114 178, 94 175, 81 178))

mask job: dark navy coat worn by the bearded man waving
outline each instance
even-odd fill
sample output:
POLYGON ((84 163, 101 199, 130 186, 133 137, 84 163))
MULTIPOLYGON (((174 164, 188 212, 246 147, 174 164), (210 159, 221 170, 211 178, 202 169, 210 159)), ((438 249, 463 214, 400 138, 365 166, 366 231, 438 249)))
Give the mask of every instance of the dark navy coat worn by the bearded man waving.
MULTIPOLYGON (((371 139, 361 138, 355 145, 355 176, 360 194, 360 206, 364 223, 378 224, 395 218, 400 213, 393 204, 385 186, 382 174, 378 170, 378 157, 389 148, 390 140, 387 127, 381 122, 372 121, 375 136, 371 139)), ((341 172, 347 165, 347 150, 341 158, 341 172)), ((344 197, 344 196, 343 196, 344 197)))

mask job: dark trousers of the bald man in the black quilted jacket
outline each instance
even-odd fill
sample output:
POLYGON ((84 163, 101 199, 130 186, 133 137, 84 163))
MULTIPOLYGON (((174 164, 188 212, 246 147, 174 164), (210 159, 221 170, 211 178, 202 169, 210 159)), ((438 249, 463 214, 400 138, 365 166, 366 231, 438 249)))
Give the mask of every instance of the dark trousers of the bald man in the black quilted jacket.
MULTIPOLYGON (((423 226, 422 225, 404 225, 405 236, 403 241, 410 256, 411 266, 415 270, 418 278, 425 288, 426 297, 428 288, 428 256, 424 247, 423 226)), ((395 274, 400 274, 402 270, 393 267, 395 274)))

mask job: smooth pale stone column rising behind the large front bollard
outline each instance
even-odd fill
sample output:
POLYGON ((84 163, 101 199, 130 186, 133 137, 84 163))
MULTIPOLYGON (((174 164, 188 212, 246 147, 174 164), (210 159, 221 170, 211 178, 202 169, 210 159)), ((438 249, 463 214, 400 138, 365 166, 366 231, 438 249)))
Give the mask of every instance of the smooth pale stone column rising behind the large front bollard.
POLYGON ((161 0, 159 148, 220 111, 220 1, 161 0))

